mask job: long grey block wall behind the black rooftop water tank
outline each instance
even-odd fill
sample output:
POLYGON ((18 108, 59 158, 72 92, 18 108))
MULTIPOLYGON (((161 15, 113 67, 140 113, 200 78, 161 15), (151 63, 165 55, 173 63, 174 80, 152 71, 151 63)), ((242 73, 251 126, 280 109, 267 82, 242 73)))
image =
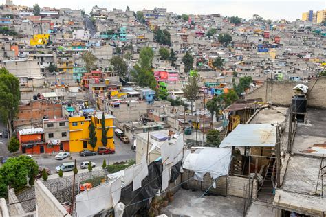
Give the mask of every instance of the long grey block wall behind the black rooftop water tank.
MULTIPOLYGON (((249 93, 246 98, 262 98, 264 102, 267 101, 276 105, 290 106, 292 95, 294 95, 293 88, 297 84, 299 83, 290 81, 266 81, 261 87, 255 89, 252 93, 249 93)), ((308 96, 308 106, 325 109, 326 76, 320 77, 318 81, 309 81, 306 85, 309 87, 309 90, 312 90, 308 96)))

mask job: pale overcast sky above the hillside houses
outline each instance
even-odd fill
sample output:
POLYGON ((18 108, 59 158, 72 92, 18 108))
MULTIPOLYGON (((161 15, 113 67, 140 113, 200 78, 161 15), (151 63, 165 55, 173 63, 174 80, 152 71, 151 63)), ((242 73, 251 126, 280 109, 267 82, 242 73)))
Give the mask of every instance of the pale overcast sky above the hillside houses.
MULTIPOLYGON (((3 3, 5 0, 1 0, 3 3)), ((259 14, 264 19, 301 19, 301 13, 308 10, 323 10, 326 0, 13 0, 15 5, 41 7, 85 9, 89 12, 94 5, 111 10, 131 10, 167 8, 168 12, 177 14, 221 14, 221 16, 239 16, 250 19, 252 14, 259 14)))

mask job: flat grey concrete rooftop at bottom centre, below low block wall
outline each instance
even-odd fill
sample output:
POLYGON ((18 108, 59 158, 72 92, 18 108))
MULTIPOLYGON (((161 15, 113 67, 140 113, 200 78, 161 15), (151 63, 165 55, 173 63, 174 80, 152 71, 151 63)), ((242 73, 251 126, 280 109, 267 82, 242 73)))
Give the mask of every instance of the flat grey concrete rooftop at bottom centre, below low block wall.
POLYGON ((203 192, 178 190, 162 214, 176 216, 242 216, 243 199, 235 196, 202 196, 203 192), (202 197, 200 197, 202 196, 202 197))

